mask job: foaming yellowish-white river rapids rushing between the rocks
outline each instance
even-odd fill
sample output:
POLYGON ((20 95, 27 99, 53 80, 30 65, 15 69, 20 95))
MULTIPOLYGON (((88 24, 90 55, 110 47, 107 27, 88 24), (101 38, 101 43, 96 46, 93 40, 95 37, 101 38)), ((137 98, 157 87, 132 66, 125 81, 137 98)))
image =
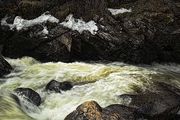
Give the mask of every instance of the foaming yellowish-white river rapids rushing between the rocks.
POLYGON ((1 120, 63 120, 79 104, 95 100, 102 107, 121 103, 118 95, 143 91, 154 81, 180 87, 180 65, 133 66, 119 62, 40 63, 33 58, 7 59, 14 71, 0 79, 1 120), (52 79, 71 81, 72 90, 48 93, 44 90, 52 79), (32 88, 42 97, 39 107, 21 99, 21 108, 10 97, 15 88, 32 88))

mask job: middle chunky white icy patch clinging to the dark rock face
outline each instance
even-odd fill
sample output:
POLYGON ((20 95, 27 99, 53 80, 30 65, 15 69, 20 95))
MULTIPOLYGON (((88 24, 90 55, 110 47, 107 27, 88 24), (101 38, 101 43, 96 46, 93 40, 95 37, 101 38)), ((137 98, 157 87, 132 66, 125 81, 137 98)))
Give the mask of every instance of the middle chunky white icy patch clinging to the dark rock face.
POLYGON ((75 19, 72 14, 67 16, 66 20, 60 24, 69 29, 77 30, 79 33, 87 30, 95 35, 98 31, 98 27, 94 21, 91 20, 86 23, 81 19, 75 19))

